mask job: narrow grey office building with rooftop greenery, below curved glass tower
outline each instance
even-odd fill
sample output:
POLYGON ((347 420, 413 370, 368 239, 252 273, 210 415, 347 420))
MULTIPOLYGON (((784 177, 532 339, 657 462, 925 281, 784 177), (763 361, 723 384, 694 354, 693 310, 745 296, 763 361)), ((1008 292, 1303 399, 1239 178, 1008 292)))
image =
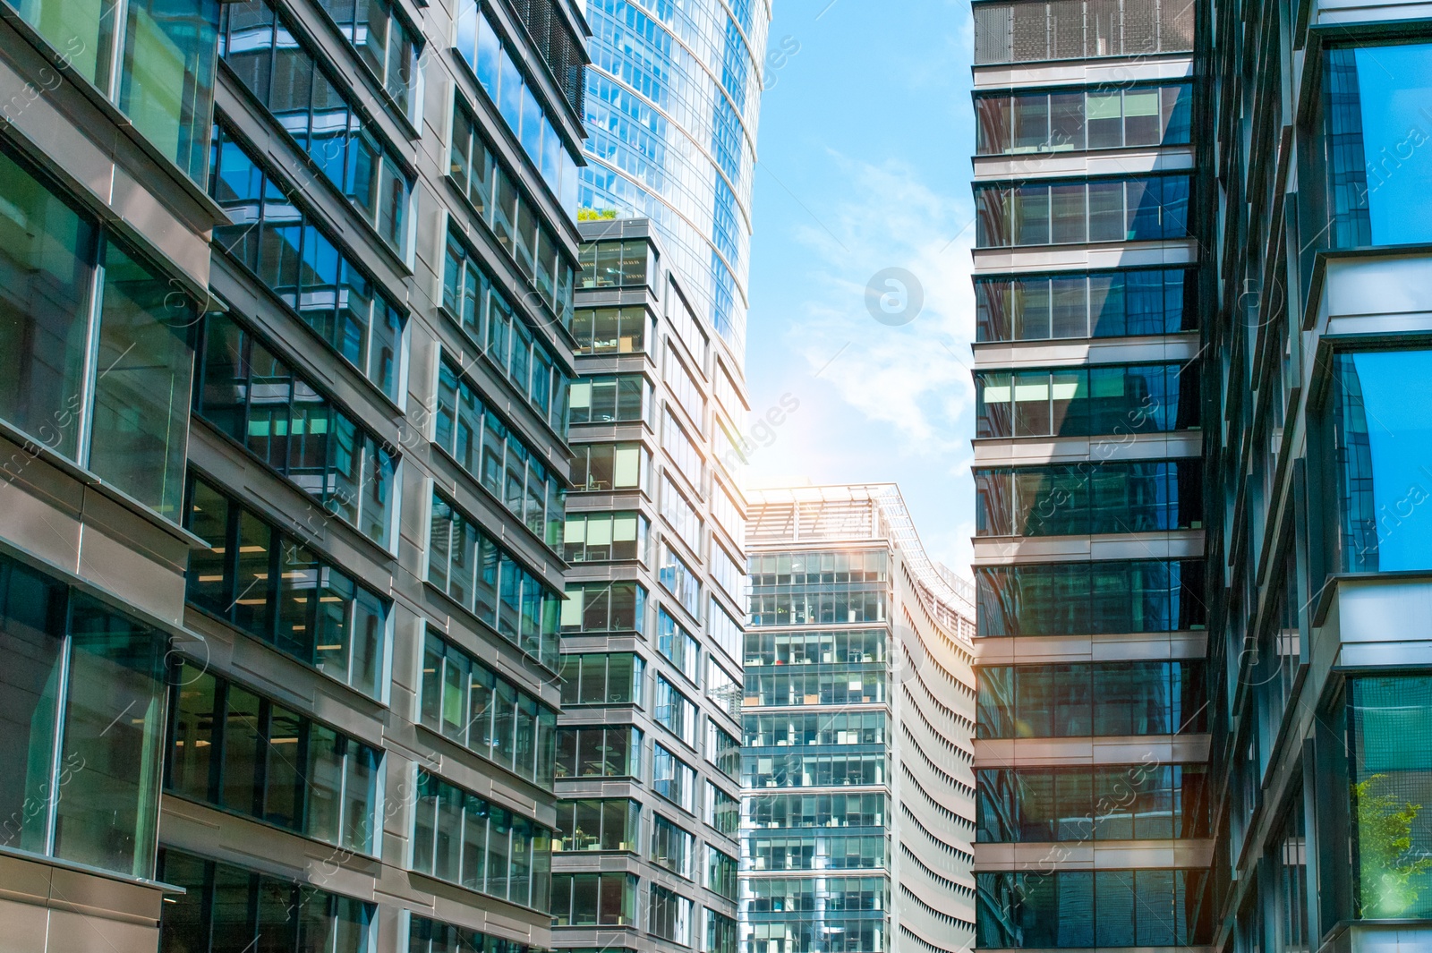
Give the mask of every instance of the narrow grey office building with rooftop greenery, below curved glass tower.
POLYGON ((650 222, 579 228, 554 943, 733 953, 740 353, 650 222))

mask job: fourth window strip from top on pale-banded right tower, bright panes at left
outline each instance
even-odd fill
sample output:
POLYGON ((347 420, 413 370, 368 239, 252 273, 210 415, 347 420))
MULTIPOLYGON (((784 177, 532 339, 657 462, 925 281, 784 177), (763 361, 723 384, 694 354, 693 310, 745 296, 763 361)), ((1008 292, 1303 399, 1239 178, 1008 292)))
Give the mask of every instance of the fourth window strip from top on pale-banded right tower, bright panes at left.
POLYGON ((975 436, 1167 434, 1200 424, 1197 363, 979 371, 975 436))

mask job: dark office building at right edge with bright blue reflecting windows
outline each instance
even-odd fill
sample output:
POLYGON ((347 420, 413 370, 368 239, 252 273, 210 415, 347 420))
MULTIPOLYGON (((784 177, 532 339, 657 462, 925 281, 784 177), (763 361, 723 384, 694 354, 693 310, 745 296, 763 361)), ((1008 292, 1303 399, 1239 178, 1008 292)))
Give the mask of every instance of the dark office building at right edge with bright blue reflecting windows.
POLYGON ((1432 6, 1200 11, 1214 940, 1432 949, 1432 6))

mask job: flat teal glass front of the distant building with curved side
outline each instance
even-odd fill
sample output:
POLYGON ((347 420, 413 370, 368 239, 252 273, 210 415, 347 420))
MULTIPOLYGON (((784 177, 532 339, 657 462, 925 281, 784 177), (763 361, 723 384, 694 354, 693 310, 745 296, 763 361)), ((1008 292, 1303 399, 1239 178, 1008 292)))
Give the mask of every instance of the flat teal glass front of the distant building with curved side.
POLYGON ((891 634, 885 625, 846 625, 885 622, 889 567, 886 549, 750 557, 740 750, 748 953, 886 949, 891 634), (786 631, 790 627, 821 628, 786 631), (803 791, 829 787, 853 790, 803 791), (789 879, 848 870, 878 874, 789 879), (769 873, 780 877, 759 876, 769 873))

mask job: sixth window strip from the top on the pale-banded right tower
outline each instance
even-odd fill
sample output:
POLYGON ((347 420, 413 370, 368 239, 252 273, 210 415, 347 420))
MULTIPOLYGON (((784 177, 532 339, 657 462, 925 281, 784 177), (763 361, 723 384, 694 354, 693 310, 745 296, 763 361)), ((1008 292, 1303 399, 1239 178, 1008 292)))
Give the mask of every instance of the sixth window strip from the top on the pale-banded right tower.
POLYGON ((975 570, 979 635, 1101 635, 1203 628, 1203 562, 1137 559, 975 570))

